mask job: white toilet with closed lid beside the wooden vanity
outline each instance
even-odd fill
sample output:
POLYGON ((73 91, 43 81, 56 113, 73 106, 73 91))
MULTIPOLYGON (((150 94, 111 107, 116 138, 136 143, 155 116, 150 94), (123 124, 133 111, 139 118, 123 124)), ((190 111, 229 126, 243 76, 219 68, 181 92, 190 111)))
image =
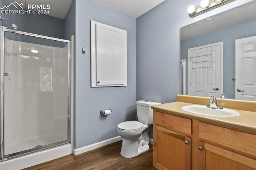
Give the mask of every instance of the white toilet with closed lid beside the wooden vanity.
POLYGON ((121 155, 132 158, 149 149, 148 130, 153 124, 152 105, 160 105, 152 101, 136 102, 138 121, 126 121, 117 125, 118 134, 123 138, 121 155))

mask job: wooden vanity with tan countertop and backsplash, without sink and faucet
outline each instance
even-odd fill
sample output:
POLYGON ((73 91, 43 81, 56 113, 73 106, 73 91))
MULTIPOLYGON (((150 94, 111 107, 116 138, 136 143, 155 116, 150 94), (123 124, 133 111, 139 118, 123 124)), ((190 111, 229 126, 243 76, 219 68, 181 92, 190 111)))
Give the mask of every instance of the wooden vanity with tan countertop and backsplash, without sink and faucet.
POLYGON ((152 106, 153 165, 167 170, 255 170, 256 103, 217 99, 238 117, 208 117, 183 111, 208 105, 210 97, 177 95, 177 102, 152 106))

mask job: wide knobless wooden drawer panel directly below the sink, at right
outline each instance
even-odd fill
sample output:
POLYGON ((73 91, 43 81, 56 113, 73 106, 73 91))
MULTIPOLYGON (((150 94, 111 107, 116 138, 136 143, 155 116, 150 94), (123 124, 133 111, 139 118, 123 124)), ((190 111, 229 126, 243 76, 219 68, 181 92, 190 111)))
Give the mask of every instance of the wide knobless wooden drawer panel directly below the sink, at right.
POLYGON ((256 135, 199 123, 199 138, 256 156, 256 135))

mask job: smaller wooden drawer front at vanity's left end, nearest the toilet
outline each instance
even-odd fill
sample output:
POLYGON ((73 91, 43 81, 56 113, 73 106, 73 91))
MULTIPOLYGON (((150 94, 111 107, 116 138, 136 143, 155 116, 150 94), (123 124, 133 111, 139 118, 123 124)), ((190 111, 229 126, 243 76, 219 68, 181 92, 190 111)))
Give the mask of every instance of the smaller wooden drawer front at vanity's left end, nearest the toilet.
POLYGON ((154 124, 191 134, 191 120, 154 111, 154 124))

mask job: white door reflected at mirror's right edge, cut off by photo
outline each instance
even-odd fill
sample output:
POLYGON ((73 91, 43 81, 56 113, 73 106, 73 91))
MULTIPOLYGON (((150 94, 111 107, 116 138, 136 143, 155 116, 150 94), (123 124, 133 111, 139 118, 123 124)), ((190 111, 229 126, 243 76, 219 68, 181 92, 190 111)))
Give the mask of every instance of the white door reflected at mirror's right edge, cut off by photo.
POLYGON ((236 99, 256 101, 256 36, 236 40, 236 99))

